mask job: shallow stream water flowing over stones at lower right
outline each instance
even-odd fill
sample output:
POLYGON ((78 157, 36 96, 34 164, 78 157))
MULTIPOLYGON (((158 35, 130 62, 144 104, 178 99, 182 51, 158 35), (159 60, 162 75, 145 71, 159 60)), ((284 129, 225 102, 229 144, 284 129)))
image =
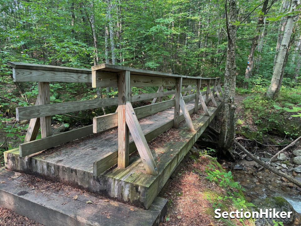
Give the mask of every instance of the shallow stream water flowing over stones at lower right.
POLYGON ((249 168, 248 172, 243 170, 231 170, 235 181, 238 181, 242 187, 248 202, 252 202, 256 198, 269 198, 273 196, 282 196, 301 214, 301 189, 288 187, 288 183, 284 178, 271 173, 269 170, 262 169, 256 176, 252 175, 255 168, 249 168))

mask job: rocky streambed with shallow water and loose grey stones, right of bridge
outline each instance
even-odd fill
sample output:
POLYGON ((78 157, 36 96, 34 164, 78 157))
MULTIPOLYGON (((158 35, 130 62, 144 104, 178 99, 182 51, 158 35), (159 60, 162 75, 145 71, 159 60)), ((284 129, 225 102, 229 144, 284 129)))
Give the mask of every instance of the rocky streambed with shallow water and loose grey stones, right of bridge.
MULTIPOLYGON (((260 159, 261 161, 268 162, 271 157, 272 155, 270 153, 263 153, 260 159)), ((243 193, 249 202, 281 196, 292 205, 297 213, 301 214, 301 188, 289 182, 287 179, 265 168, 255 173, 261 166, 249 158, 241 159, 232 165, 228 165, 224 162, 222 166, 225 169, 230 169, 234 180, 238 181, 241 186, 245 188, 243 193)), ((301 150, 279 154, 277 159, 271 162, 271 166, 301 181, 301 150)), ((294 222, 291 225, 300 225, 299 214, 296 215, 298 223, 294 222)))

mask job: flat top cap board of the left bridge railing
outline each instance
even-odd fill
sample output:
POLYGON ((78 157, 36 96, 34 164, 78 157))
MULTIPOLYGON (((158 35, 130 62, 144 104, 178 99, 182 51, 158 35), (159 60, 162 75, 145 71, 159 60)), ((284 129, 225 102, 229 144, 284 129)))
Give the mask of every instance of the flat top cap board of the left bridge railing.
POLYGON ((90 69, 86 69, 86 68, 61 67, 61 66, 52 66, 52 65, 44 65, 44 64, 34 64, 34 63, 20 63, 20 62, 10 62, 10 61, 8 61, 6 64, 10 67, 17 68, 17 69, 75 72, 75 73, 89 73, 89 74, 92 73, 90 69))

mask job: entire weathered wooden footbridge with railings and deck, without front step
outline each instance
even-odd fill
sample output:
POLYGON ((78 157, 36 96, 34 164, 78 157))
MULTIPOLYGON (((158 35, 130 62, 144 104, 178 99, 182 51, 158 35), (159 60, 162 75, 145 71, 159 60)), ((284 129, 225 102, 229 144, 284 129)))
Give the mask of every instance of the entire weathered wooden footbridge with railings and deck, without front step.
POLYGON ((16 109, 17 120, 31 120, 24 143, 5 152, 5 167, 145 209, 221 107, 220 78, 110 64, 92 70, 17 62, 8 65, 13 68, 14 81, 38 82, 39 91, 35 106, 16 109), (50 104, 52 82, 117 87, 118 97, 50 104), (152 86, 158 87, 156 93, 131 93, 131 87, 152 86), (163 92, 165 86, 175 89, 163 92), (207 87, 203 92, 202 86, 207 87), (162 101, 168 95, 172 98, 162 101), (132 107, 131 102, 142 100, 152 102, 132 107), (95 117, 90 126, 52 135, 52 115, 113 105, 118 105, 115 113, 95 117), (36 139, 39 129, 42 138, 36 139))

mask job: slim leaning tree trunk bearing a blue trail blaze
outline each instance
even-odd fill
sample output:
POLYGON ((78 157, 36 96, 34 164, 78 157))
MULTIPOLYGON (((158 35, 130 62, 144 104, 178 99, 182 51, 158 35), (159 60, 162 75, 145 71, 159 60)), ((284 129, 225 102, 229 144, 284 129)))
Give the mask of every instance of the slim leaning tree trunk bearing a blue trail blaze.
POLYGON ((258 22, 257 22, 257 26, 256 26, 256 35, 253 37, 253 40, 252 40, 251 50, 249 53, 246 72, 245 72, 245 81, 244 81, 244 86, 243 86, 244 89, 248 89, 248 86, 249 86, 249 79, 251 77, 253 67, 254 67, 254 52, 258 45, 260 28, 261 28, 261 25, 264 24, 264 18, 265 18, 265 14, 267 13, 268 3, 269 3, 269 0, 266 0, 263 3, 262 10, 261 10, 261 12, 263 13, 263 16, 260 16, 258 18, 258 22))

